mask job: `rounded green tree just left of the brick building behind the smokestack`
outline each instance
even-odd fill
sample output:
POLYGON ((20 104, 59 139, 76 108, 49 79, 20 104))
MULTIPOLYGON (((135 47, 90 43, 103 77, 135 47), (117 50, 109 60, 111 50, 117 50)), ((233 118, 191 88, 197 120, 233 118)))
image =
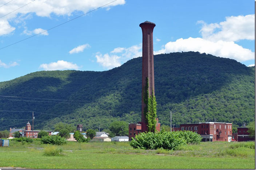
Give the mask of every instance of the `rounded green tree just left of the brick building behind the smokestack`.
POLYGON ((109 129, 115 136, 128 136, 128 133, 129 133, 128 126, 129 126, 128 122, 115 121, 109 125, 109 129))

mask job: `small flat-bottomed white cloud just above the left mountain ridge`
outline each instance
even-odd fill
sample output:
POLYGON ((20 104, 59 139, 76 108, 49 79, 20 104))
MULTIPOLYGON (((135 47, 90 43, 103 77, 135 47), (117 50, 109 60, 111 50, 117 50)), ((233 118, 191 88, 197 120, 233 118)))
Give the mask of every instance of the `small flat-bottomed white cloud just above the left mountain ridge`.
POLYGON ((59 60, 57 62, 51 62, 49 64, 41 64, 39 68, 43 68, 44 70, 67 70, 67 69, 78 70, 79 66, 77 66, 76 64, 73 64, 72 62, 59 60))

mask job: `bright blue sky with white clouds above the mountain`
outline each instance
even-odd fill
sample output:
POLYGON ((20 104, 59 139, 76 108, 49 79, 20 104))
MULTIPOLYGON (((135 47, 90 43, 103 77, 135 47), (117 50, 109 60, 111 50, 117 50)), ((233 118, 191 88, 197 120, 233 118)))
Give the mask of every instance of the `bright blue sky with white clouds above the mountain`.
MULTIPOLYGON (((10 0, 1 0, 2 4, 10 0)), ((31 2, 13 0, 0 17, 31 2)), ((0 48, 111 0, 35 0, 0 18, 0 48)), ((141 56, 139 24, 156 24, 154 54, 199 51, 255 64, 255 1, 117 0, 60 27, 0 50, 0 81, 41 70, 103 71, 141 56)))

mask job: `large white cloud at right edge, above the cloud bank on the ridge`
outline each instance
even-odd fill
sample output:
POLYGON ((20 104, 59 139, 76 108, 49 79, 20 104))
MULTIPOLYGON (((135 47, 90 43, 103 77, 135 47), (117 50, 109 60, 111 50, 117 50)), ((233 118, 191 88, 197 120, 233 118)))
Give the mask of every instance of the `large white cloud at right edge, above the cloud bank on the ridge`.
POLYGON ((255 15, 226 17, 226 21, 220 23, 203 24, 200 30, 203 39, 211 41, 239 41, 255 40, 255 15))

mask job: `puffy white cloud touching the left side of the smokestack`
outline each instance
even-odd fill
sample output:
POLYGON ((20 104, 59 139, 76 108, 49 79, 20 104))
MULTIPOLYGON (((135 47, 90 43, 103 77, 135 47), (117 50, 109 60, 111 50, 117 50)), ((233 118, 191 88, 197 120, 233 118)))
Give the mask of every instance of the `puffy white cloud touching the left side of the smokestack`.
POLYGON ((100 52, 96 53, 97 62, 105 68, 111 69, 120 66, 127 60, 142 56, 142 44, 133 45, 128 48, 117 47, 110 52, 102 55, 100 52))

